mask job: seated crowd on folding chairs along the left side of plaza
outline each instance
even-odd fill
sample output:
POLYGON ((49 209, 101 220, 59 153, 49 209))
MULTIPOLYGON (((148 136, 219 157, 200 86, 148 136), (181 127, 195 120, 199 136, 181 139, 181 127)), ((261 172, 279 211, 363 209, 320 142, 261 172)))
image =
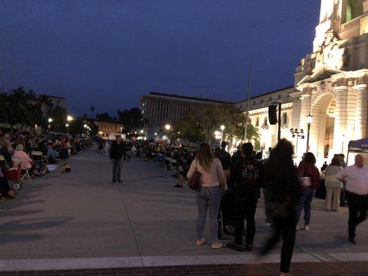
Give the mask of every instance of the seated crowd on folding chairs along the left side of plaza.
POLYGON ((57 164, 60 159, 68 159, 90 146, 89 139, 70 135, 0 133, 0 200, 17 198, 8 179, 12 168, 19 166, 20 175, 30 179, 42 177, 48 173, 48 164, 57 164))

